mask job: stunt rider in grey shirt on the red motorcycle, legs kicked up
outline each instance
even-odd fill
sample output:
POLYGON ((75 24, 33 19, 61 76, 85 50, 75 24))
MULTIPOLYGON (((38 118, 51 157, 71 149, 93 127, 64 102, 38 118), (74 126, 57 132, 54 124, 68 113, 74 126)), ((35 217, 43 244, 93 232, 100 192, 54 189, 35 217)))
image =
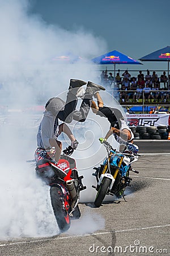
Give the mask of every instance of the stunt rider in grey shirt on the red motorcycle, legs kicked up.
POLYGON ((105 90, 103 86, 88 81, 84 93, 83 85, 86 85, 86 82, 71 79, 66 102, 58 97, 50 98, 48 102, 46 102, 45 111, 37 133, 38 147, 35 152, 36 162, 44 158, 50 158, 50 150, 52 147, 55 148, 55 161, 56 163, 58 162, 62 150, 62 143, 58 141, 58 135, 61 134, 62 131, 70 138, 71 147, 74 150, 78 146, 78 141, 76 141, 66 123, 70 123, 73 119, 78 122, 86 121, 88 112, 91 108, 93 94, 96 91, 105 90), (83 94, 84 97, 80 109, 76 110, 78 97, 82 97, 83 94), (64 123, 59 125, 58 120, 61 120, 64 123))

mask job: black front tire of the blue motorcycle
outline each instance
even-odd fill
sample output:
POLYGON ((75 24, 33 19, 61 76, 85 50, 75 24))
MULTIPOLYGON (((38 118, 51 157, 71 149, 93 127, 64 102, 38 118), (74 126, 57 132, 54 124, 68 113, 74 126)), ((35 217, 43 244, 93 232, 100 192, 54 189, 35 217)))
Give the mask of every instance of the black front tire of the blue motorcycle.
POLYGON ((101 204, 104 200, 104 197, 108 192, 110 185, 111 185, 111 180, 108 179, 107 177, 104 177, 103 180, 101 181, 99 191, 97 192, 97 195, 95 198, 95 202, 94 202, 95 207, 101 206, 101 204))

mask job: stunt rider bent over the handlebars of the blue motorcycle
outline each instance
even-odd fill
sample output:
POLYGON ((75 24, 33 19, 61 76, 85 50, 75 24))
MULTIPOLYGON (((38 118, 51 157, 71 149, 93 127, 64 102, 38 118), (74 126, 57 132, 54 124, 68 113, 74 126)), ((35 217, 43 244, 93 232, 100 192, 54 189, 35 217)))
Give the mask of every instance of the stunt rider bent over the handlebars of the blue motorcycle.
POLYGON ((92 101, 92 112, 101 117, 108 118, 109 123, 111 124, 109 131, 104 138, 100 138, 100 142, 103 143, 113 134, 116 141, 121 145, 120 151, 125 151, 128 149, 134 154, 138 153, 138 146, 133 144, 134 134, 130 130, 129 126, 126 125, 124 117, 120 110, 109 108, 104 106, 103 100, 99 94, 96 92, 94 97, 97 99, 97 105, 95 101, 92 101))

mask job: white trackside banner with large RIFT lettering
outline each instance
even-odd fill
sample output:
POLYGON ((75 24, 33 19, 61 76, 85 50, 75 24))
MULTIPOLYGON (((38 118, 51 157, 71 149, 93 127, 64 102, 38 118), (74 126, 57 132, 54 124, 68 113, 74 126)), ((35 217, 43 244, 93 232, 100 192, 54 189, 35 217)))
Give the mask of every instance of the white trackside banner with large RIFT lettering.
POLYGON ((170 114, 129 114, 126 115, 129 126, 168 126, 170 114))

